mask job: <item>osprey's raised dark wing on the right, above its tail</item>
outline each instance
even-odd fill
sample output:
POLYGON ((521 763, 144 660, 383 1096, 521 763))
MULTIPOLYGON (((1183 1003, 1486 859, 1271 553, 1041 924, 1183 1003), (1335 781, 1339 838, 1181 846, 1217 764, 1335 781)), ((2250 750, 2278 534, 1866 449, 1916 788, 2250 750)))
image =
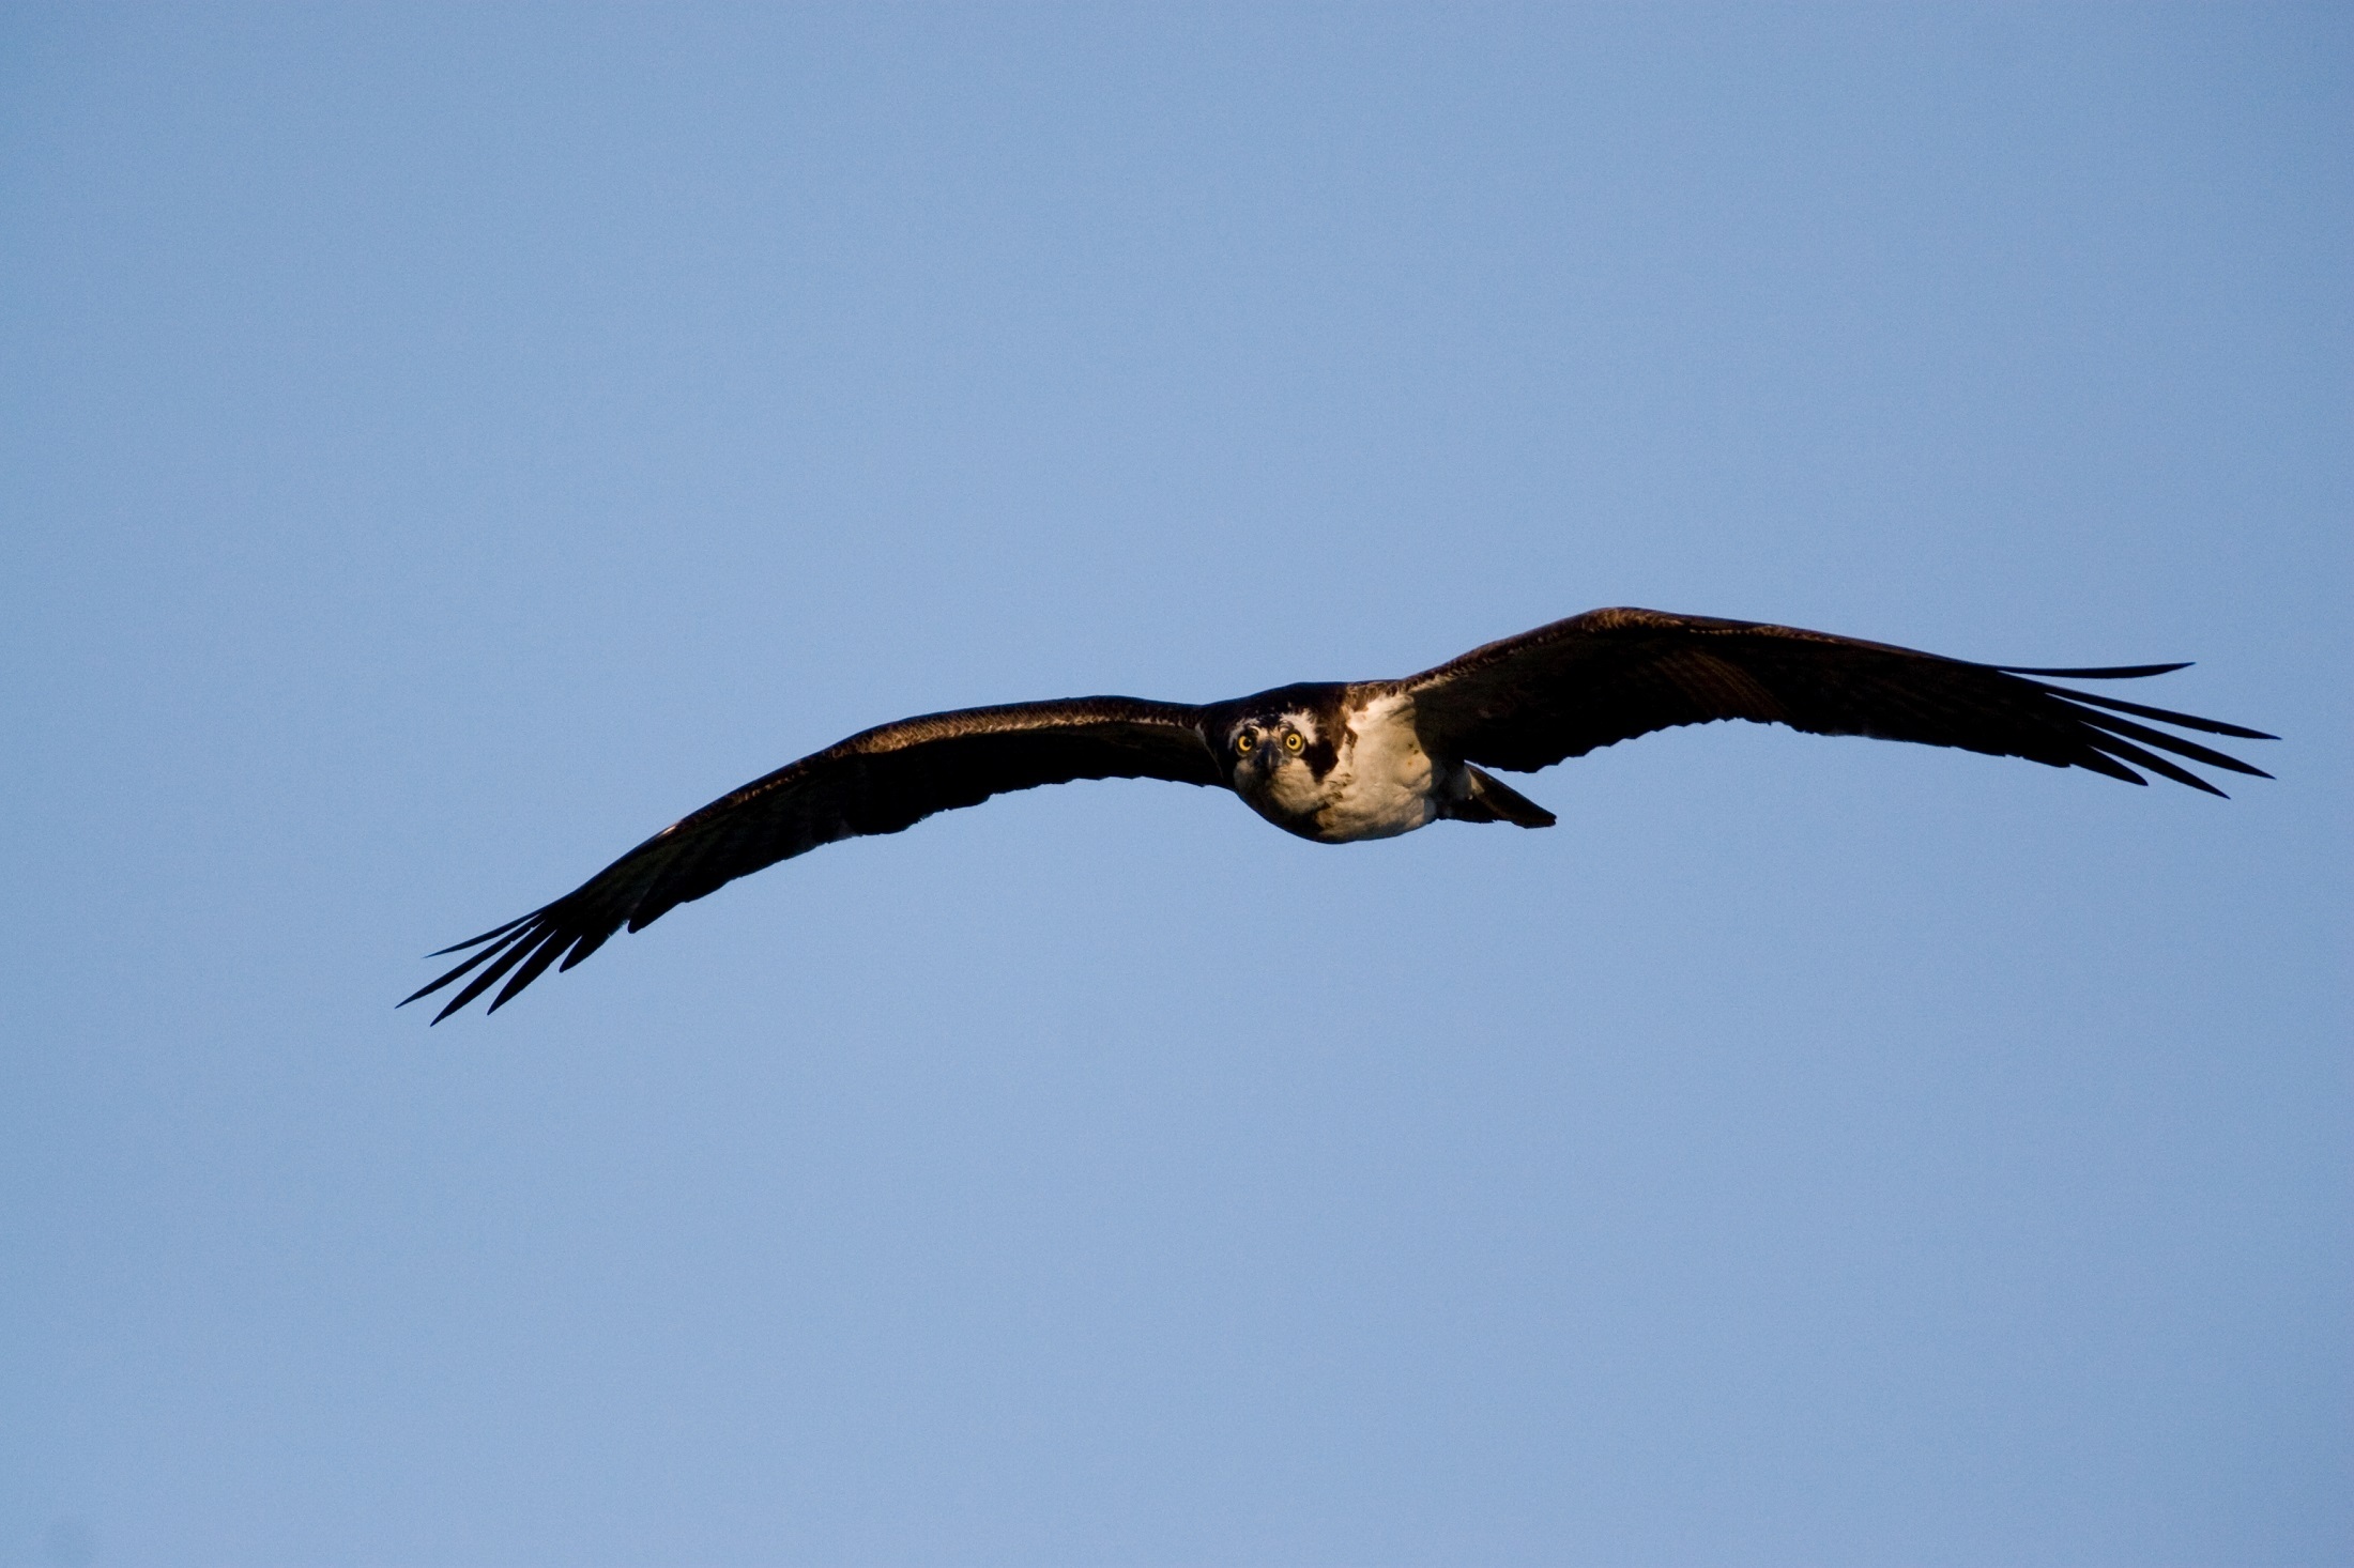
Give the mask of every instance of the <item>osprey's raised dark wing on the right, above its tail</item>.
POLYGON ((2182 664, 2010 669, 1796 626, 1589 610, 1474 647, 1396 687, 1412 695, 1415 727, 1427 746, 1521 772, 1653 730, 1751 718, 1815 735, 1874 735, 2024 756, 2053 768, 2090 768, 2128 784, 2147 784, 2133 770, 2147 768, 2215 796, 2222 791, 2159 751, 2272 777, 2135 718, 2241 739, 2272 735, 2032 678, 2123 680, 2173 669, 2182 664))

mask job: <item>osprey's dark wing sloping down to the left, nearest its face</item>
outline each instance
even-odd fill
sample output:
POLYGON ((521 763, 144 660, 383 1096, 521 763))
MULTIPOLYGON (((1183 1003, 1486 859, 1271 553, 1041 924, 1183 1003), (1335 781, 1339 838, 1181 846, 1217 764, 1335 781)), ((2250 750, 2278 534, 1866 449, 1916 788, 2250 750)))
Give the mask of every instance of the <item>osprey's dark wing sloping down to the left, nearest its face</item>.
MULTIPOLYGON (((1071 779, 1224 784, 1196 711, 1135 697, 1071 697, 925 713, 789 763, 673 822, 565 897, 480 937, 454 970, 400 1005, 473 972, 433 1022, 501 977, 497 1012, 551 963, 572 968, 612 932, 638 930, 706 892, 836 838, 897 833, 932 812, 1071 779)), ((440 954, 435 954, 440 956, 440 954)))

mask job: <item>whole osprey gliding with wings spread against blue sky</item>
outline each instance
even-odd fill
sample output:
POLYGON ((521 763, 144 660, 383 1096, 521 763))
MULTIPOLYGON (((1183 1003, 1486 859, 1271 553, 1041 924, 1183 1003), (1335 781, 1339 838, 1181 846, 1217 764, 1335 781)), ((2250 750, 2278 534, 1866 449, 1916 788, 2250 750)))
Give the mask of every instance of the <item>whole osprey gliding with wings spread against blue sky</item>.
POLYGON ((1636 735, 1718 718, 2022 756, 2128 784, 2144 784, 2133 768, 2147 768, 2213 796, 2222 791, 2159 751, 2272 777, 2137 718, 2239 739, 2272 735, 2034 678, 2123 680, 2175 669, 2182 664, 2015 669, 1796 626, 1594 610, 1403 680, 1278 685, 1201 706, 1069 697, 925 713, 753 779, 553 904, 445 946, 435 956, 468 958, 400 1005, 473 975, 433 1022, 506 979, 490 1003, 497 1012, 551 963, 570 970, 624 925, 650 925, 760 866, 1071 779, 1231 789, 1288 833, 1351 843, 1438 819, 1551 826, 1549 810, 1481 765, 1535 772, 1636 735))

